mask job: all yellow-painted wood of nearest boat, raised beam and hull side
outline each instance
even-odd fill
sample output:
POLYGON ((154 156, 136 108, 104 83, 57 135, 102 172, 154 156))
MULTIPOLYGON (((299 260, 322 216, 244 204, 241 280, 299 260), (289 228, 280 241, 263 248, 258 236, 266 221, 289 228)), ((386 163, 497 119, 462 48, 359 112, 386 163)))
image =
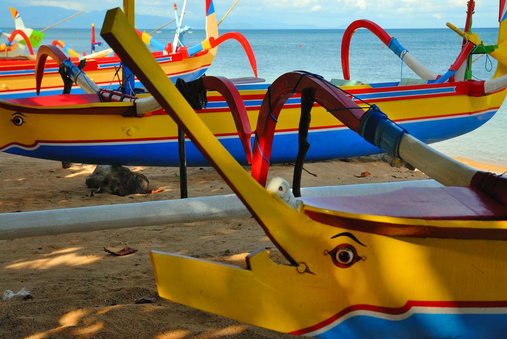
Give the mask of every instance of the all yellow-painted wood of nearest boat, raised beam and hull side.
MULTIPOLYGON (((307 267, 298 273, 297 265, 275 263, 265 250, 250 257, 251 270, 151 251, 160 296, 284 332, 315 325, 352 305, 399 308, 409 300, 507 300, 505 242, 395 238, 356 231, 362 246, 349 237, 335 237, 347 229, 315 222, 303 209, 288 208, 239 166, 167 80, 120 11, 108 12, 102 34, 207 153, 278 247, 294 264, 307 267), (329 254, 344 243, 361 257, 347 269, 336 267, 329 254)), ((505 221, 490 225, 503 229, 505 221)), ((470 222, 466 227, 482 224, 470 222)))

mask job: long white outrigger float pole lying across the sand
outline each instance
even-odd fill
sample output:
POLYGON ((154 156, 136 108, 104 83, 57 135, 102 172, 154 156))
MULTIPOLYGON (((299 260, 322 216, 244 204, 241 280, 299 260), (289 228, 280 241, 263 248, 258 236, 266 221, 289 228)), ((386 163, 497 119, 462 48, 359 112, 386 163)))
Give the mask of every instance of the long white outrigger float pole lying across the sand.
MULTIPOLYGON (((434 180, 308 187, 303 197, 358 196, 403 187, 438 187, 434 180)), ((0 214, 0 240, 249 217, 236 195, 0 214)))

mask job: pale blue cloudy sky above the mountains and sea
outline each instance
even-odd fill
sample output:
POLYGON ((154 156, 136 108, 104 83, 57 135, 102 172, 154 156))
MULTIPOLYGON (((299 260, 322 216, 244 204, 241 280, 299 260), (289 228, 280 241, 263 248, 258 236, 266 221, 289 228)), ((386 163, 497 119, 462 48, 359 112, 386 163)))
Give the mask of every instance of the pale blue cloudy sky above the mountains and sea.
MULTIPOLYGON (((165 0, 136 0, 136 14, 174 18, 173 3, 165 0)), ((15 0, 13 6, 55 6, 69 10, 106 11, 122 7, 122 0, 15 0)), ((176 1, 181 9, 183 0, 176 1)), ((214 0, 221 19, 234 0, 214 0)), ((270 25, 346 28, 356 19, 369 19, 384 28, 445 28, 450 21, 464 24, 467 0, 240 0, 226 19, 227 26, 271 28, 270 25)), ((475 27, 497 26, 499 0, 477 0, 475 27)), ((202 19, 205 0, 188 0, 185 16, 202 19)))

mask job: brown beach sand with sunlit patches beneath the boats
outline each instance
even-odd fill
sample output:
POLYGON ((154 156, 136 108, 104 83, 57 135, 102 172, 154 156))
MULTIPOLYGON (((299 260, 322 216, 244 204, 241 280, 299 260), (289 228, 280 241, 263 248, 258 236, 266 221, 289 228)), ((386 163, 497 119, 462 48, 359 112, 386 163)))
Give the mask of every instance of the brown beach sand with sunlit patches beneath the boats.
MULTIPOLYGON (((163 191, 117 197, 90 195, 85 178, 94 169, 91 165, 63 169, 56 161, 5 153, 0 153, 0 164, 0 213, 179 198, 177 168, 130 167, 149 178, 150 189, 163 191)), ((291 164, 273 166, 270 176, 291 179, 293 169, 291 164)), ((426 178, 377 157, 311 163, 305 169, 303 187, 426 178), (357 177, 365 171, 371 174, 357 177)), ((189 197, 231 193, 213 168, 191 168, 188 175, 189 197)), ((32 296, 0 299, 0 338, 292 337, 162 298, 134 303, 157 292, 150 249, 244 267, 245 256, 259 247, 272 248, 272 256, 283 260, 253 218, 0 241, 0 292, 25 287, 32 296), (125 245, 138 252, 116 257, 103 250, 125 245)))

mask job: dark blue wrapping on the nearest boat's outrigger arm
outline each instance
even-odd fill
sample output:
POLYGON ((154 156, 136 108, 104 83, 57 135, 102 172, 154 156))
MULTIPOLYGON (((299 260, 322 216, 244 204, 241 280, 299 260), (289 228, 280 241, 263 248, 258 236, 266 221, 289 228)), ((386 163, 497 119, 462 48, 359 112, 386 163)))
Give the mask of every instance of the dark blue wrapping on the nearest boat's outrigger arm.
POLYGON ((390 120, 376 105, 361 119, 359 134, 369 143, 399 157, 399 143, 407 130, 390 120))

